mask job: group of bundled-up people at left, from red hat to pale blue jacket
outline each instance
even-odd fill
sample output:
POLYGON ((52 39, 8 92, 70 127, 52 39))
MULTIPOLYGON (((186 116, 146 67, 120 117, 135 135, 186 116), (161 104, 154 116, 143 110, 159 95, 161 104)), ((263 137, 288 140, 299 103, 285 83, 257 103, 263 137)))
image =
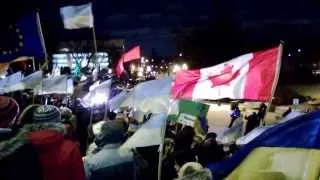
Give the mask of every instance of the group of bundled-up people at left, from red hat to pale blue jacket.
POLYGON ((133 152, 119 150, 128 121, 109 113, 90 126, 90 110, 79 106, 21 110, 7 96, 0 104, 1 179, 136 179, 133 152))

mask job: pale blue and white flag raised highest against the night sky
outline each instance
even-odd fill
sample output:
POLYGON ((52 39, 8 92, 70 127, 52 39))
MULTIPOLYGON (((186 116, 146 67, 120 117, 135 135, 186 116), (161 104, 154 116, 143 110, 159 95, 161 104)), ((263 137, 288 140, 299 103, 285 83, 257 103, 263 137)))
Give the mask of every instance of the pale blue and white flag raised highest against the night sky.
POLYGON ((80 29, 93 27, 92 3, 80 6, 60 8, 60 14, 65 29, 80 29))

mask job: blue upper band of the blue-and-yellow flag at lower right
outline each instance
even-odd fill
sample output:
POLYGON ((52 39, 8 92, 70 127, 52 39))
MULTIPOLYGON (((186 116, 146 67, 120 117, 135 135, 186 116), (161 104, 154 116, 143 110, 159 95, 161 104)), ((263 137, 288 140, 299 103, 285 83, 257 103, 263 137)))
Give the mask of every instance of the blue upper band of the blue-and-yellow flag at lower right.
POLYGON ((298 116, 278 124, 243 146, 231 158, 212 163, 208 168, 214 179, 223 179, 230 174, 247 155, 257 147, 287 147, 320 149, 320 111, 298 116))

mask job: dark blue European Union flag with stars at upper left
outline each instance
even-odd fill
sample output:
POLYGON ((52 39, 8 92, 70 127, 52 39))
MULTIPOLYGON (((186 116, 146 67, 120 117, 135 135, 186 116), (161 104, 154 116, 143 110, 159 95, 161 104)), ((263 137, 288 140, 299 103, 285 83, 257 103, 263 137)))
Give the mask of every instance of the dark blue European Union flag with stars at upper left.
POLYGON ((44 57, 35 12, 24 13, 1 31, 0 63, 20 56, 44 57))

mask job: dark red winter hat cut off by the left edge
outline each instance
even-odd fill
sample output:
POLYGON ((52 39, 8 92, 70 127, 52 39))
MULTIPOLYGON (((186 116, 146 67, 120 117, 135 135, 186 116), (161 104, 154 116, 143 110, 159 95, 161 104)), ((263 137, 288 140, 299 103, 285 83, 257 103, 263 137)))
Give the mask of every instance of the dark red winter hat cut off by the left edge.
POLYGON ((18 103, 13 98, 0 96, 0 128, 9 128, 15 124, 18 114, 18 103))

